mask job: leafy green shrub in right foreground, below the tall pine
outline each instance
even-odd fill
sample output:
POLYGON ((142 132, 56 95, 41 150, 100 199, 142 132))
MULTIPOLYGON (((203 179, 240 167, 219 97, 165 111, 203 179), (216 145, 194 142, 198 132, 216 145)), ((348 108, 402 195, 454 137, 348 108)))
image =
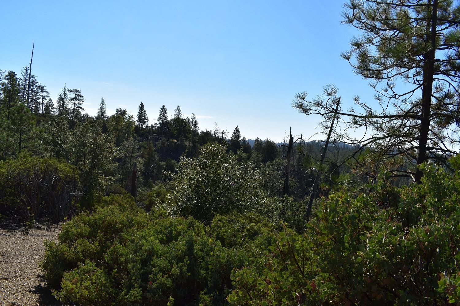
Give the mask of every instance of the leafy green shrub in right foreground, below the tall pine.
POLYGON ((331 195, 304 234, 232 273, 233 305, 445 305, 459 302, 460 158, 425 167, 420 185, 380 180, 331 195), (370 187, 370 186, 369 186, 370 187))

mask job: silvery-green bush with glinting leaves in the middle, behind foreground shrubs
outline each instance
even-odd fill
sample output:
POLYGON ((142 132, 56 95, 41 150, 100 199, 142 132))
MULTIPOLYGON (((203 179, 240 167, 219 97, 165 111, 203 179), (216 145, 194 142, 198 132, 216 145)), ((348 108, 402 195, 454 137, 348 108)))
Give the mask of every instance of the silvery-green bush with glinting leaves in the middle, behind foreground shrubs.
POLYGON ((216 214, 257 212, 269 216, 273 200, 252 164, 238 161, 223 145, 201 148, 195 160, 182 158, 171 183, 173 213, 209 224, 216 214))

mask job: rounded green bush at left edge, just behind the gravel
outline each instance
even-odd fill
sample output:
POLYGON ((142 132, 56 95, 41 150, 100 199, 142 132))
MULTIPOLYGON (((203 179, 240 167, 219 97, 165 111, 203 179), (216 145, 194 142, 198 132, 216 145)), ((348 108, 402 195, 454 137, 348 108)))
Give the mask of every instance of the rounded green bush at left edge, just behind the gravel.
POLYGON ((20 155, 0 161, 0 212, 30 221, 43 215, 54 222, 75 211, 79 198, 75 167, 53 158, 20 155))

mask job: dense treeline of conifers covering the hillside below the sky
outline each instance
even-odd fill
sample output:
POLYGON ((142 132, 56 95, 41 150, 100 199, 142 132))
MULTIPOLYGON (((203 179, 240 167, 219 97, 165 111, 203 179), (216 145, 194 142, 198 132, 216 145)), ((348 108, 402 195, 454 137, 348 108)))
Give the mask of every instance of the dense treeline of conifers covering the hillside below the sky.
MULTIPOLYGON (((96 200, 109 193, 128 192, 142 201, 155 186, 171 180, 181 168, 178 164, 181 158, 195 159, 200 155, 201 147, 210 143, 224 145, 225 150, 235 155, 238 161, 250 163, 261 173, 265 189, 273 196, 288 195, 302 200, 311 192, 315 167, 322 154, 322 142, 305 142, 299 137, 288 148, 288 144, 277 145, 270 139, 257 138, 251 146, 242 137, 238 126, 229 138, 217 123, 213 130, 200 131, 197 117, 192 114, 184 118, 179 106, 171 119, 167 108, 161 106, 156 122, 149 124, 143 102, 136 117, 122 108, 109 115, 102 98, 97 115, 92 117, 84 112, 84 96, 80 89, 69 89, 64 85, 56 102, 53 102, 46 87, 35 76, 29 79, 29 73, 28 67, 19 78, 13 71, 1 73, 0 159, 9 161, 2 164, 2 167, 8 168, 7 172, 15 167, 23 169, 21 173, 19 169, 14 170, 18 173, 17 177, 38 171, 35 169, 37 165, 29 161, 60 163, 62 168, 67 169, 65 171, 77 173, 78 184, 73 184, 73 189, 65 189, 69 193, 67 198, 70 197, 75 207, 53 208, 62 212, 59 217, 53 216, 55 221, 92 207, 96 200), (287 163, 288 150, 294 152, 290 154, 290 163, 287 163), (287 171, 287 164, 290 171, 287 171), (29 168, 25 169, 24 165, 29 165, 29 168), (287 173, 291 185, 288 194, 283 189, 287 173)), ((350 174, 349 167, 337 166, 352 148, 337 148, 327 153, 330 163, 325 173, 334 172, 335 175, 325 175, 320 195, 334 189, 337 183, 334 179, 350 174)), ((40 171, 44 171, 42 176, 51 175, 46 172, 46 167, 40 171)), ((10 176, 4 176, 5 182, 11 182, 5 183, 6 191, 20 190, 21 186, 28 184, 26 181, 11 181, 10 176)), ((12 205, 15 201, 11 202, 7 194, 0 195, 3 203, 10 203, 2 206, 2 214, 29 220, 51 211, 50 205, 40 200, 34 205, 27 204, 30 200, 21 196, 18 196, 21 204, 12 205)), ((69 200, 66 204, 55 201, 52 206, 61 205, 69 206, 69 200)))

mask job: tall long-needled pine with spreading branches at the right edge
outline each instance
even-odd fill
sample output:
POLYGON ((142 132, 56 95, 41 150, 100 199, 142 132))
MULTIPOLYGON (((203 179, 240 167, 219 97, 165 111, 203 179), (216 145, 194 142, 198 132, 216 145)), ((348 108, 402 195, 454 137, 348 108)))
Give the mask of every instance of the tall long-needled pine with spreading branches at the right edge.
MULTIPOLYGON (((340 111, 349 128, 374 132, 362 140, 349 135, 341 140, 378 148, 378 160, 388 164, 403 156, 412 169, 397 166, 391 173, 412 175, 420 183, 423 173, 416 164, 432 160, 447 167, 460 143, 460 6, 451 0, 350 0, 345 9, 343 23, 363 33, 341 56, 371 80, 378 105, 357 98, 362 110, 340 111)), ((319 106, 323 114, 334 108, 319 106)))

